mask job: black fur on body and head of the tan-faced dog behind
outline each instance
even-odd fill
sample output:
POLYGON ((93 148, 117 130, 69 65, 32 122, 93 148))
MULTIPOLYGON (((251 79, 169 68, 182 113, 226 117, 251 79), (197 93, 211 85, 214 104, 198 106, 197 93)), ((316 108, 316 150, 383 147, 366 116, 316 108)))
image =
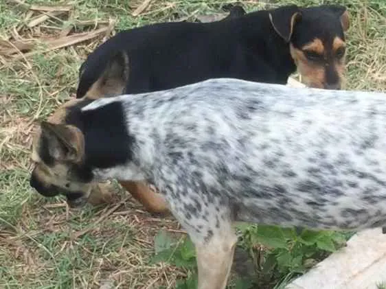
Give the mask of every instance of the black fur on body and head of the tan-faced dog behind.
MULTIPOLYGON (((286 9, 281 10, 284 14, 286 9)), ((296 10, 302 14, 291 38, 295 47, 331 34, 344 39, 339 11, 330 6, 303 9, 290 5, 287 10, 287 20, 296 10)), ((273 11, 244 15, 236 11, 238 16, 228 16, 227 21, 157 23, 120 32, 83 63, 76 97, 87 93, 111 55, 120 51, 129 59, 124 93, 171 89, 209 78, 286 84, 296 66, 289 44, 271 25, 269 12, 273 11)))

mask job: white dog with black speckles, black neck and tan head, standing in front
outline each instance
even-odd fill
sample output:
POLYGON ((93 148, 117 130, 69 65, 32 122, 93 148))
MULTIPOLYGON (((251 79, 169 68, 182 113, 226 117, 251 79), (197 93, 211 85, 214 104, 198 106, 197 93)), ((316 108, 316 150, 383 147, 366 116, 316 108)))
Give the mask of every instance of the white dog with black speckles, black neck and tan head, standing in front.
POLYGON ((81 204, 94 181, 154 184, 196 245, 199 289, 225 288, 235 221, 386 222, 386 93, 214 79, 90 102, 41 124, 32 187, 81 204))

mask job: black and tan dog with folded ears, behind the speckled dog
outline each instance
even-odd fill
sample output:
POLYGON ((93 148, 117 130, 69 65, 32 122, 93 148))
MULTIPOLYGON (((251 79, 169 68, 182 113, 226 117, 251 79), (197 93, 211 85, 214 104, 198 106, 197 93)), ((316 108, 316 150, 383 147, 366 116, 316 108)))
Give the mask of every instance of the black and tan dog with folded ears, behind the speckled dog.
POLYGON ((349 27, 344 6, 234 12, 212 23, 157 23, 118 33, 87 57, 77 97, 159 91, 225 77, 286 84, 296 70, 308 86, 341 87, 349 27), (109 79, 98 80, 118 51, 126 54, 124 82, 106 85, 109 79))

